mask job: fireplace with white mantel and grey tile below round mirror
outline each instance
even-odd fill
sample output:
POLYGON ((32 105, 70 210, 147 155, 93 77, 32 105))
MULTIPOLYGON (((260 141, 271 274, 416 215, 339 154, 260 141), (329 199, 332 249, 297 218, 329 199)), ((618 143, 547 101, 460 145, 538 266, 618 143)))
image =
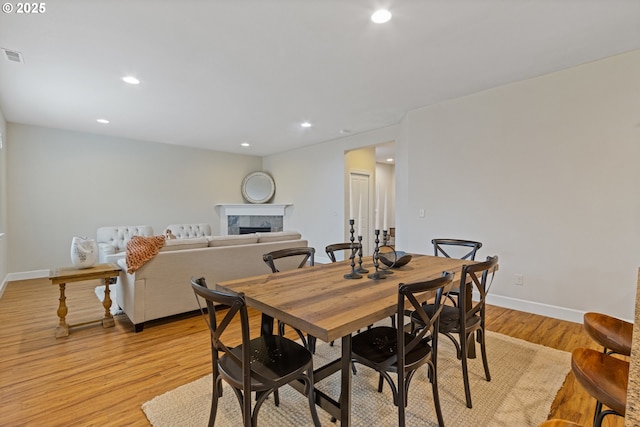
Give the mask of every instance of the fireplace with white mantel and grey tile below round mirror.
POLYGON ((220 204, 220 234, 283 231, 285 208, 290 204, 220 204))

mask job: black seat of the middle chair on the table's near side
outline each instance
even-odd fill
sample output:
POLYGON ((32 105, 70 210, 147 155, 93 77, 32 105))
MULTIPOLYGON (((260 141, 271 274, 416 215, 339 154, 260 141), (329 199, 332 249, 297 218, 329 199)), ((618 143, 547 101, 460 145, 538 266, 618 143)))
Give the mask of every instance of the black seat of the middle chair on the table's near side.
MULTIPOLYGON (((405 343, 413 339, 411 334, 405 333, 405 343)), ((367 329, 364 332, 360 332, 355 335, 351 341, 351 352, 355 356, 356 360, 362 360, 373 362, 375 365, 383 364, 389 360, 390 357, 395 356, 398 351, 397 346, 397 331, 396 328, 390 326, 377 326, 375 328, 367 329)), ((419 345, 416 345, 406 355, 405 364, 413 365, 414 363, 424 359, 424 356, 431 351, 431 346, 427 340, 420 341, 419 345)), ((365 363, 365 365, 371 365, 365 363)), ((395 369, 387 370, 397 372, 397 364, 394 362, 389 365, 395 367, 395 369)))

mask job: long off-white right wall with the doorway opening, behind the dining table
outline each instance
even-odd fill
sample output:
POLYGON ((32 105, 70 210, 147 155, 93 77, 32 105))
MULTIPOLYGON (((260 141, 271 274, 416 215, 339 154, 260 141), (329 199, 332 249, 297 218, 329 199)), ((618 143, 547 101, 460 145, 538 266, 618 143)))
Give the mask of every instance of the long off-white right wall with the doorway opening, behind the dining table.
POLYGON ((343 236, 345 150, 396 141, 397 246, 500 256, 507 307, 632 319, 640 265, 640 51, 410 112, 400 126, 268 156, 316 248, 343 236), (418 217, 419 209, 426 211, 418 217), (524 286, 515 286, 524 274, 524 286))

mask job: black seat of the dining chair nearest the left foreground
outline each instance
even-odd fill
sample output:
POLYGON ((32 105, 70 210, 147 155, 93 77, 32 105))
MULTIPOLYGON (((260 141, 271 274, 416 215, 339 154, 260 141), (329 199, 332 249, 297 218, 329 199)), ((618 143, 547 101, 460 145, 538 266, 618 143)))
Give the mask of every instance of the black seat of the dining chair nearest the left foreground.
MULTIPOLYGON (((311 353, 300 344, 278 335, 267 335, 249 341, 251 349, 251 370, 272 382, 264 384, 255 377, 251 379, 253 390, 268 390, 273 384, 286 384, 291 376, 298 376, 298 369, 309 364, 311 353)), ((242 346, 231 350, 239 358, 242 346)), ((220 375, 238 388, 242 387, 242 367, 228 355, 219 360, 220 375)))

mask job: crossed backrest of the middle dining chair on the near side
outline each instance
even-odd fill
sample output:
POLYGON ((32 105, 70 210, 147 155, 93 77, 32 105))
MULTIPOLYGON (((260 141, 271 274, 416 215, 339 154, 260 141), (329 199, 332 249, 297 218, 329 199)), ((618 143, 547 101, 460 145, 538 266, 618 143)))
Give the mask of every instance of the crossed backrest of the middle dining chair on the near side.
MULTIPOLYGON (((413 310, 414 315, 419 316, 423 325, 425 325, 422 329, 416 331, 410 341, 404 339, 404 328, 398 328, 398 367, 405 366, 405 369, 411 369, 411 366, 408 366, 407 361, 405 360, 405 355, 413 350, 415 346, 425 338, 430 338, 432 348, 437 348, 438 319, 440 318, 440 313, 442 313, 442 308, 444 307, 444 299, 451 289, 453 276, 454 273, 445 271, 442 273, 442 277, 437 279, 410 284, 401 283, 398 285, 398 318, 396 320, 396 325, 404 325, 404 315, 407 310, 413 310), (423 303, 425 299, 430 299, 430 294, 433 294, 434 292, 435 298, 433 301, 433 313, 429 316, 423 303)), ((398 385, 398 387, 400 387, 400 385, 398 385)))

